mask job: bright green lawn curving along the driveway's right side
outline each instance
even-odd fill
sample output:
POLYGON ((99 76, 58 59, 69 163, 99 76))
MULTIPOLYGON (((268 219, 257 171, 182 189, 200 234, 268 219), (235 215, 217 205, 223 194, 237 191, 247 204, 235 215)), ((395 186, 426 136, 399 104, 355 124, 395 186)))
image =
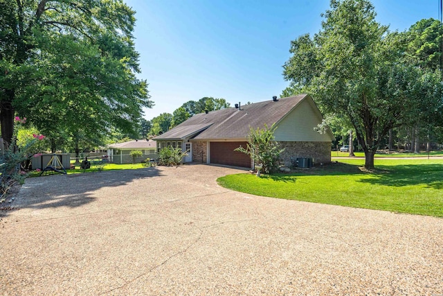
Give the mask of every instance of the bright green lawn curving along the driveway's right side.
POLYGON ((272 198, 443 217, 443 160, 375 159, 371 173, 360 170, 363 164, 343 159, 297 173, 227 175, 217 182, 272 198))

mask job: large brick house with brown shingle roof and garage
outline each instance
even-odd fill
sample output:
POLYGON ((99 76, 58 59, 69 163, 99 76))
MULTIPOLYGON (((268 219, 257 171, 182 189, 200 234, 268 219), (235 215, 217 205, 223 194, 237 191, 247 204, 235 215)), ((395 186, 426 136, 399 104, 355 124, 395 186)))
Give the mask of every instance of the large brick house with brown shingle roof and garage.
MULTIPOLYGON (((236 104, 237 105, 237 104, 236 104)), ((271 101, 230 107, 224 110, 195 114, 154 140, 157 152, 168 146, 188 151, 184 162, 253 166, 251 157, 234 151, 246 148, 251 128, 276 125, 275 141, 284 147, 280 160, 287 166, 291 158, 312 157, 314 164, 331 162, 332 132, 314 130, 323 117, 309 95, 273 98, 271 101)))

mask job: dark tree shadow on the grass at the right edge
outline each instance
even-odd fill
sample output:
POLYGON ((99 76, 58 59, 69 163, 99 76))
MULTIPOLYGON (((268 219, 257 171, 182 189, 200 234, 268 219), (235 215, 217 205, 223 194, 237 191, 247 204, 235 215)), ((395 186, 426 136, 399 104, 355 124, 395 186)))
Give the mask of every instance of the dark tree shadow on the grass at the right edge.
POLYGON ((443 166, 441 164, 408 164, 401 166, 379 166, 383 173, 374 173, 372 178, 359 182, 385 186, 426 185, 428 188, 443 189, 443 166))

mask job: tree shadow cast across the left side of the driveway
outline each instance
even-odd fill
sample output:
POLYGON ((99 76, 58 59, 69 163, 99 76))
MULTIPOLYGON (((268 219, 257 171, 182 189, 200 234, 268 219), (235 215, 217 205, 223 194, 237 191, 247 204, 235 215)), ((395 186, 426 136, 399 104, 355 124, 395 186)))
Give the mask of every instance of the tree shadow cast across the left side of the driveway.
MULTIPOLYGON (((26 182, 15 202, 15 208, 46 209, 57 207, 80 207, 96 200, 94 191, 103 187, 118 187, 134 180, 161 176, 158 168, 143 168, 121 171, 102 171, 72 175, 49 175, 32 177, 26 182)), ((126 196, 122 196, 125 198, 126 196)), ((106 196, 103 196, 106 198, 106 196)), ((0 211, 0 216, 8 215, 8 211, 0 211)))

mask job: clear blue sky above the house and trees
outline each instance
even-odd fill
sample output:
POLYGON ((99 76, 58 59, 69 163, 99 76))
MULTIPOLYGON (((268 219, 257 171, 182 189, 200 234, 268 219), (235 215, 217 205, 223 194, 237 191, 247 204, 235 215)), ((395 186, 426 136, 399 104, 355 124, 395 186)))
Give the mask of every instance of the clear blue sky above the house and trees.
MULTIPOLYGON (((329 0, 126 0, 136 10, 136 50, 154 101, 152 119, 204 96, 230 105, 280 96, 282 65, 298 36, 320 30, 329 0)), ((405 31, 439 18, 440 0, 373 0, 377 21, 405 31)))

